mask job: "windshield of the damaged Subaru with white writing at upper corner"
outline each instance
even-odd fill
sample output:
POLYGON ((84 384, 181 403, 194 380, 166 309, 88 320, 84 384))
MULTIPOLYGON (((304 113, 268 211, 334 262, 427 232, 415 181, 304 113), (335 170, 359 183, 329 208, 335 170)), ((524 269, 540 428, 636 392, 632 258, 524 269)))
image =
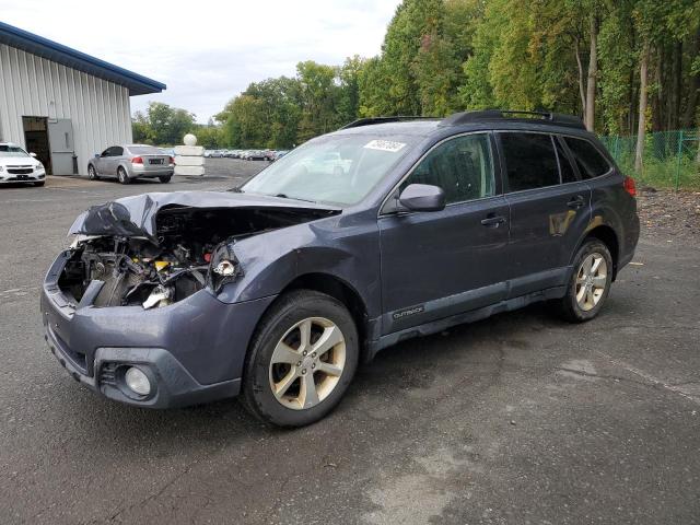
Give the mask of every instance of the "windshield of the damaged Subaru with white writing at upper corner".
POLYGON ((244 192, 354 205, 419 137, 325 136, 290 151, 241 188, 244 192))

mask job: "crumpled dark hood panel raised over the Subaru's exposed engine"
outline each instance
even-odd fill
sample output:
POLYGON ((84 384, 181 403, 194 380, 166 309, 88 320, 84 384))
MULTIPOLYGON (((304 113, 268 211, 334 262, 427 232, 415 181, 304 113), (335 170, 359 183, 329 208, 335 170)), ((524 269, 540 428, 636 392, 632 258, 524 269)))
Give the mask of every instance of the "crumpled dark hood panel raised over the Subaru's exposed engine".
POLYGON ((200 209, 340 210, 331 206, 254 194, 230 191, 153 192, 125 197, 104 205, 93 206, 78 215, 68 233, 149 237, 155 242, 155 218, 159 211, 164 208, 180 207, 200 209))

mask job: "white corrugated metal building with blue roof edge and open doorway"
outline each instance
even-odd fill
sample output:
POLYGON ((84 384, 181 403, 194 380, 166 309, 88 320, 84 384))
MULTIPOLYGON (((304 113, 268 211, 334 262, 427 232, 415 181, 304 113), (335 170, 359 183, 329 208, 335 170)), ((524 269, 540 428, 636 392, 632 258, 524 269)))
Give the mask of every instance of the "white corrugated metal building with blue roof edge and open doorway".
POLYGON ((165 84, 0 22, 0 142, 36 153, 49 173, 85 173, 129 143, 129 97, 165 84))

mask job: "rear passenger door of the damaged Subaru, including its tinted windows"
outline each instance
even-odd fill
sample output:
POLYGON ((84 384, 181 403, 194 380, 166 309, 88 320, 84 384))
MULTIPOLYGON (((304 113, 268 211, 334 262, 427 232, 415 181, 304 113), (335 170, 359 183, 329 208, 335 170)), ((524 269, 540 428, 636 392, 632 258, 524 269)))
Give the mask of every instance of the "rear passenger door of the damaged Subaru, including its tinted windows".
POLYGON ((559 137, 498 136, 511 208, 509 298, 563 285, 571 254, 591 220, 591 189, 559 137))

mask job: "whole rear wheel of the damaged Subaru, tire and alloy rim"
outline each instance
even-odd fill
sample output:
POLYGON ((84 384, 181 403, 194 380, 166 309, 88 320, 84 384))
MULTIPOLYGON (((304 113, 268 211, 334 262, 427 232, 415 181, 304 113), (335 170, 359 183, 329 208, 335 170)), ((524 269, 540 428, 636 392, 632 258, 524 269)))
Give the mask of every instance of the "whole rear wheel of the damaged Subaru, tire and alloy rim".
POLYGON ((569 323, 593 319, 600 312, 611 283, 610 250, 597 238, 588 238, 574 257, 567 294, 553 302, 557 314, 569 323))

